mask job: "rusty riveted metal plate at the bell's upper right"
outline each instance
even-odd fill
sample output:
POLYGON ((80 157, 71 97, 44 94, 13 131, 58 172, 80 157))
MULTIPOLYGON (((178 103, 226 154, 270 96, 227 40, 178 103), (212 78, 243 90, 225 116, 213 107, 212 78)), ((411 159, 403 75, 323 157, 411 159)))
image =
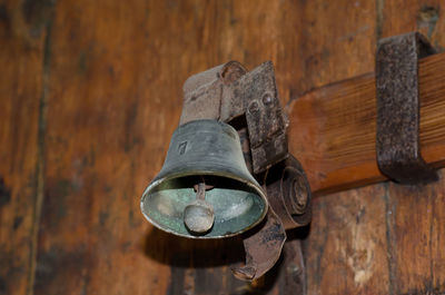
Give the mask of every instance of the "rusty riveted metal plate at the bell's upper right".
POLYGON ((241 76, 222 92, 224 120, 245 115, 254 174, 286 159, 286 124, 270 61, 241 76))

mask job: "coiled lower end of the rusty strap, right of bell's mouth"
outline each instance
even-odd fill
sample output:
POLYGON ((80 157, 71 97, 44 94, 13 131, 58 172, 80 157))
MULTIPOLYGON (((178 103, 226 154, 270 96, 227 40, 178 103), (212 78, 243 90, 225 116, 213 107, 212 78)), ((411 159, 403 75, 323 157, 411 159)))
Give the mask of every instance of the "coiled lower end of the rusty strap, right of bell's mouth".
MULTIPOLYGON (((266 224, 243 239, 246 265, 233 269, 234 275, 244 281, 256 279, 269 271, 278 260, 285 244, 285 229, 306 226, 312 218, 310 187, 301 165, 294 156, 289 155, 286 160, 271 167, 265 186, 270 205, 266 224)), ((299 268, 304 269, 303 260, 299 268)), ((305 274, 298 274, 301 275, 305 274)))

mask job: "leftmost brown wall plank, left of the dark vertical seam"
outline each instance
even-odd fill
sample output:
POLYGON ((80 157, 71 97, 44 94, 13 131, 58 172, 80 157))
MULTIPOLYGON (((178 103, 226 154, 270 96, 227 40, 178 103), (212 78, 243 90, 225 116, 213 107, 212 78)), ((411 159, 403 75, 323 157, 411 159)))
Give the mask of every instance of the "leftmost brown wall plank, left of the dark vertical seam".
POLYGON ((48 20, 48 9, 0 3, 0 294, 32 291, 48 20))

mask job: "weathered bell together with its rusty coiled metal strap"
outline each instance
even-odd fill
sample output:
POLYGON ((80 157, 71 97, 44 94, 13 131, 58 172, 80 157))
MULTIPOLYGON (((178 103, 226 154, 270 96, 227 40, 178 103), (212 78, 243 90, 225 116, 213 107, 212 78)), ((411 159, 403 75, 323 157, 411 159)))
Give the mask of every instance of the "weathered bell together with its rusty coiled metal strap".
MULTIPOLYGON (((182 237, 243 234, 246 264, 233 269, 239 279, 256 279, 275 265, 286 229, 306 226, 312 209, 306 175, 288 153, 271 62, 247 71, 230 61, 185 82, 179 127, 141 210, 182 237)), ((298 264, 304 269, 303 258, 298 264)), ((296 279, 301 289, 304 275, 296 279)))

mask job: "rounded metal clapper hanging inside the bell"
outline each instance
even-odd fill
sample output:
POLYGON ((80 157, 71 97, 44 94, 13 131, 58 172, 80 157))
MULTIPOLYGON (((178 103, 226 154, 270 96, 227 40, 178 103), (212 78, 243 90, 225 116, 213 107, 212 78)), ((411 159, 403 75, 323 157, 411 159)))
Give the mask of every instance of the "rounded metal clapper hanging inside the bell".
POLYGON ((204 178, 195 186, 196 199, 184 209, 184 223, 191 234, 201 235, 211 229, 215 222, 214 207, 206 201, 206 186, 204 178))

